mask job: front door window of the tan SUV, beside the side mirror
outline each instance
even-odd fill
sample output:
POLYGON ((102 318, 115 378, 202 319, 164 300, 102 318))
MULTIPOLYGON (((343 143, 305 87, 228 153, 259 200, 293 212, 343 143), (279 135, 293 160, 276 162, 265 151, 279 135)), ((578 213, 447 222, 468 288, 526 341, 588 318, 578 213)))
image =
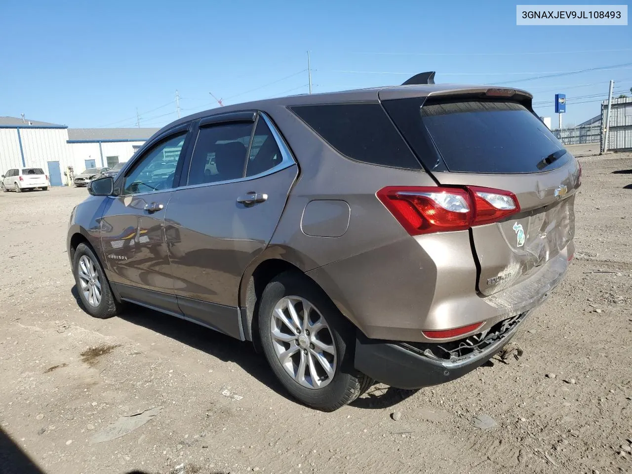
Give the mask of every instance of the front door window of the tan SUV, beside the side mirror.
POLYGON ((122 195, 173 188, 176 166, 185 143, 186 131, 157 143, 125 177, 122 195))

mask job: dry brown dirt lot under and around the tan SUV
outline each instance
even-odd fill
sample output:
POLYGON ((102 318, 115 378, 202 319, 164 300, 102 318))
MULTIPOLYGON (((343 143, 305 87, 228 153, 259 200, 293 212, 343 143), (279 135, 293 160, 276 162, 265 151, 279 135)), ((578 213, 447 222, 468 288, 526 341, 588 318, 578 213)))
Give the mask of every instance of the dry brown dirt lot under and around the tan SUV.
POLYGON ((65 250, 86 190, 0 194, 0 472, 632 472, 632 155, 581 162, 577 257, 520 360, 335 413, 288 399, 246 343, 142 308, 91 319, 65 250))

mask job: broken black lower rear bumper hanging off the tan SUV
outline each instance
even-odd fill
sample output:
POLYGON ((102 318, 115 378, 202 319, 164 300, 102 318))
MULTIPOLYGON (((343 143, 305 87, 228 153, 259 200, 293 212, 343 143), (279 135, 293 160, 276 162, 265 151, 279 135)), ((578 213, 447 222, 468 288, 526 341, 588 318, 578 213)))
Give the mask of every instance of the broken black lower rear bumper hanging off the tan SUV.
MULTIPOLYGON (((432 346, 438 348, 441 344, 375 341, 358 332, 355 367, 372 379, 399 389, 418 389, 450 382, 480 367, 498 353, 516 334, 529 313, 499 322, 498 331, 494 332, 492 328, 475 344, 468 341, 471 337, 457 341, 457 345, 465 344, 462 346, 465 348, 471 344, 471 351, 460 357, 453 354, 449 359, 434 354, 439 351, 433 351, 432 346), (503 324, 506 327, 503 328, 503 324)), ((443 355, 449 354, 444 351, 443 355)))

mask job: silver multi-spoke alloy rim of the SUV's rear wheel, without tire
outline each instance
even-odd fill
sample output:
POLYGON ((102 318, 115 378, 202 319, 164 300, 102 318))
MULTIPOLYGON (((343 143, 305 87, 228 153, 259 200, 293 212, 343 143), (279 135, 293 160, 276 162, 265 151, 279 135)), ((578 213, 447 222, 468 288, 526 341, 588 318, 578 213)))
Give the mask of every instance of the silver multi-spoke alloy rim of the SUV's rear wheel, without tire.
POLYGON ((284 370, 298 384, 320 389, 336 372, 337 353, 327 321, 312 303, 285 296, 270 320, 272 346, 284 370))

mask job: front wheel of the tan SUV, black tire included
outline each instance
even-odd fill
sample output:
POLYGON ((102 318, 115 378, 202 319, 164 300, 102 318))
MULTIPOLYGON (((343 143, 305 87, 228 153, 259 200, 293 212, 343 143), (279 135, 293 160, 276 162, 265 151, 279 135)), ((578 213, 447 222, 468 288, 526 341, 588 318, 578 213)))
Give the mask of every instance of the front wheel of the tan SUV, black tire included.
POLYGON ((73 274, 83 308, 90 316, 107 319, 119 313, 121 305, 114 298, 99 259, 85 243, 75 250, 73 274))

